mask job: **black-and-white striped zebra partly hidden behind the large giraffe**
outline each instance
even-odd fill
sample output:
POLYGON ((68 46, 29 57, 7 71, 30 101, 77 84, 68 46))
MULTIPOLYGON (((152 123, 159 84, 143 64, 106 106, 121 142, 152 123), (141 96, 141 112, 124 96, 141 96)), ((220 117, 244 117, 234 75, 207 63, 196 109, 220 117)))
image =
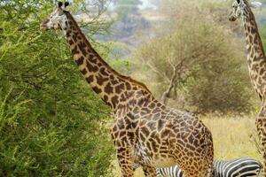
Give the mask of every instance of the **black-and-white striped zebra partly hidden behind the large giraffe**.
MULTIPOLYGON (((215 177, 258 177, 261 176, 262 164, 254 158, 237 158, 223 161, 214 160, 215 177)), ((140 165, 134 164, 136 170, 140 165)), ((156 168, 157 177, 184 177, 177 165, 168 168, 156 168)))

